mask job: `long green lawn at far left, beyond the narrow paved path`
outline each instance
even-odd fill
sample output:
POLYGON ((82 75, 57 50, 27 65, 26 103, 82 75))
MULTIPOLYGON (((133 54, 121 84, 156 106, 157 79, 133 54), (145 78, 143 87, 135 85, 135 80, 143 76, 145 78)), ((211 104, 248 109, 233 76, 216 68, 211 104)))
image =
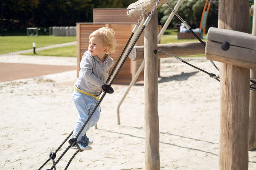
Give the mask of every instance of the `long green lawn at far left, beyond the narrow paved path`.
POLYGON ((53 37, 53 36, 6 36, 0 37, 0 54, 13 51, 21 51, 31 49, 32 42, 36 43, 36 47, 44 47, 46 45, 61 44, 65 42, 76 41, 76 37, 53 37))

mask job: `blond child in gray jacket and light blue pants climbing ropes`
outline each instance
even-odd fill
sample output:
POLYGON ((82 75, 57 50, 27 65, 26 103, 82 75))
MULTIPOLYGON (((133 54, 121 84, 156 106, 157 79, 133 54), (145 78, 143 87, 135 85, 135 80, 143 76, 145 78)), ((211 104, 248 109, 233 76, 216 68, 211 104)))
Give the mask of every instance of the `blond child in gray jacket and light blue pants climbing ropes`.
MULTIPOLYGON (((79 77, 74 84, 72 99, 78 114, 72 138, 77 137, 79 130, 99 101, 103 91, 102 85, 106 83, 108 71, 114 62, 108 53, 115 52, 115 47, 115 32, 111 28, 99 28, 89 36, 88 51, 85 51, 81 59, 79 77)), ((81 150, 92 149, 88 145, 93 144, 93 140, 86 136, 86 132, 99 121, 100 112, 99 106, 77 138, 81 150)), ((71 148, 78 149, 76 146, 71 148)))

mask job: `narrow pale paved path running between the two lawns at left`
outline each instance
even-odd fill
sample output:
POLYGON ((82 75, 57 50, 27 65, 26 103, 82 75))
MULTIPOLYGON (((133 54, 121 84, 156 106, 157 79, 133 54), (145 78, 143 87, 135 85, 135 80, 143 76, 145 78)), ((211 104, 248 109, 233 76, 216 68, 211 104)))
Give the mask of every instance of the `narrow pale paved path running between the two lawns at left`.
MULTIPOLYGON (((66 43, 62 43, 62 44, 48 45, 48 46, 45 46, 45 47, 39 47, 39 48, 35 48, 35 51, 47 50, 47 49, 50 49, 50 48, 57 48, 57 47, 64 47, 64 46, 68 46, 68 45, 76 45, 76 41, 66 42, 66 43)), ((0 54, 0 57, 1 56, 13 56, 13 55, 18 55, 18 54, 22 54, 22 53, 29 53, 29 52, 33 52, 33 48, 28 49, 28 50, 14 51, 14 52, 10 52, 10 53, 0 54)))

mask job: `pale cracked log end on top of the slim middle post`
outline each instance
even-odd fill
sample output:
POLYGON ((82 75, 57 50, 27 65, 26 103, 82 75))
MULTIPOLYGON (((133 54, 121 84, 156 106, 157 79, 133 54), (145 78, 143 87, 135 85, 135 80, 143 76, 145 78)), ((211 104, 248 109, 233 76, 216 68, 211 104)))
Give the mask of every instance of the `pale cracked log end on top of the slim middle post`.
MULTIPOLYGON (((168 0, 160 0, 158 7, 167 1, 168 0)), ((144 10, 145 13, 151 12, 153 7, 156 5, 156 2, 157 0, 138 0, 128 6, 126 14, 130 18, 140 17, 144 10)))

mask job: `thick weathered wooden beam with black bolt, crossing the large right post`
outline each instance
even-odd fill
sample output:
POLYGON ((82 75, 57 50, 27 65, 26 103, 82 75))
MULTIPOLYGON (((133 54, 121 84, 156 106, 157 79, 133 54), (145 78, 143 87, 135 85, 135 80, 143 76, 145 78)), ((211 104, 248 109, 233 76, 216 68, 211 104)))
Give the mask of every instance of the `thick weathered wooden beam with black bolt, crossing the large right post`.
POLYGON ((209 28, 207 40, 207 59, 256 69, 256 36, 239 31, 209 28), (227 49, 221 48, 223 42, 228 42, 227 49))

